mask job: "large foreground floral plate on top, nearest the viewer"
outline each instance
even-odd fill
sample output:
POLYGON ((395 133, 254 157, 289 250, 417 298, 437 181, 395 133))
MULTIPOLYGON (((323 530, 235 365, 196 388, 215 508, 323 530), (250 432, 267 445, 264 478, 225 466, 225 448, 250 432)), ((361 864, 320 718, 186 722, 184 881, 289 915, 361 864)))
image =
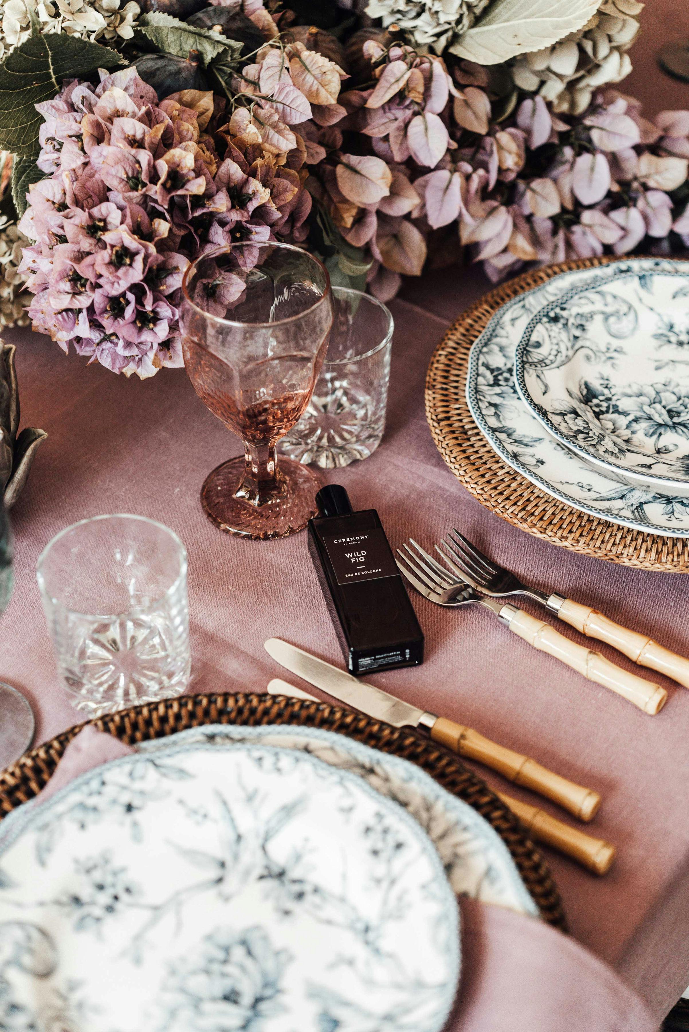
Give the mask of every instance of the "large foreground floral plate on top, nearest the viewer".
POLYGON ((117 760, 0 850, 0 1027, 439 1032, 458 978, 425 832, 295 749, 117 760))

